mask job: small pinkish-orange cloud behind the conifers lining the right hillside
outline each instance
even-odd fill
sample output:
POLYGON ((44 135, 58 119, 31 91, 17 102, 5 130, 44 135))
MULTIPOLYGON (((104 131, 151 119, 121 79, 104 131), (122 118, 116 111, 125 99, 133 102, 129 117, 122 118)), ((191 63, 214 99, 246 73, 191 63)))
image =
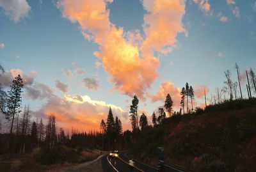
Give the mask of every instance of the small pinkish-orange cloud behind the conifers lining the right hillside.
POLYGON ((152 102, 164 101, 167 94, 170 94, 173 100, 173 106, 180 107, 180 89, 175 87, 173 82, 163 82, 157 91, 156 95, 148 95, 152 102))

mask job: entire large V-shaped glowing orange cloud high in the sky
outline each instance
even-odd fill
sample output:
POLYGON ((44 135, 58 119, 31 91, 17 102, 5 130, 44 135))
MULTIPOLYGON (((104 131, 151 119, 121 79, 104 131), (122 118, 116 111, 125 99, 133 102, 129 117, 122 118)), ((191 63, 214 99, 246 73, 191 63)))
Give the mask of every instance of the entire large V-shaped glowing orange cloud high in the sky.
POLYGON ((79 24, 84 38, 99 45, 100 51, 94 55, 102 61, 115 89, 145 99, 145 91, 158 75, 159 59, 153 56, 152 50, 166 53, 176 47, 175 37, 184 31, 181 20, 185 3, 145 0, 143 5, 149 13, 145 15, 146 38, 143 41, 138 30, 124 33, 122 27, 111 24, 106 9, 106 4, 111 2, 60 0, 58 8, 63 17, 79 24))

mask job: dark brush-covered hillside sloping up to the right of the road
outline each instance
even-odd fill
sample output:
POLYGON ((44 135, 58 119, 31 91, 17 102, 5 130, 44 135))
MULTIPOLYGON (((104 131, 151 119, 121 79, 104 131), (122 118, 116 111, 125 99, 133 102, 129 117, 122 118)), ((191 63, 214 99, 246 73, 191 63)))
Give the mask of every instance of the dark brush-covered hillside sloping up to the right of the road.
POLYGON ((133 153, 156 163, 157 146, 164 146, 167 163, 193 171, 255 171, 256 100, 225 102, 167 118, 143 134, 133 153))

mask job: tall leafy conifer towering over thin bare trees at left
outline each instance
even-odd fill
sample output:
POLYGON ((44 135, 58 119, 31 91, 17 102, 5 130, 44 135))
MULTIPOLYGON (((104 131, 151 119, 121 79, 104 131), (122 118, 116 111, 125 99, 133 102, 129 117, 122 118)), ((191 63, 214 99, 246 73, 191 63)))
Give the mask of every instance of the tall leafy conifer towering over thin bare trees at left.
POLYGON ((11 85, 11 90, 8 91, 8 98, 7 98, 7 113, 6 119, 11 123, 10 134, 12 134, 13 130, 13 122, 15 116, 21 112, 21 93, 23 87, 23 81, 20 75, 17 75, 15 79, 12 81, 13 84, 11 85))

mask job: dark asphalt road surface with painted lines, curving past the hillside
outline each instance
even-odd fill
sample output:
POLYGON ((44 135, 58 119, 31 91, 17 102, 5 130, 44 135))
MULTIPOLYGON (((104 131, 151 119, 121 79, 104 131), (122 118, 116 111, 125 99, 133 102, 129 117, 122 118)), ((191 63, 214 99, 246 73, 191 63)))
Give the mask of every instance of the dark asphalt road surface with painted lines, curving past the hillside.
MULTIPOLYGON (((156 167, 144 164, 135 159, 133 160, 134 172, 157 172, 156 167)), ((129 156, 126 153, 120 153, 116 159, 109 157, 109 155, 104 155, 104 157, 102 157, 102 168, 104 172, 131 172, 128 162, 129 156)), ((164 172, 184 172, 167 164, 164 168, 164 172)))

